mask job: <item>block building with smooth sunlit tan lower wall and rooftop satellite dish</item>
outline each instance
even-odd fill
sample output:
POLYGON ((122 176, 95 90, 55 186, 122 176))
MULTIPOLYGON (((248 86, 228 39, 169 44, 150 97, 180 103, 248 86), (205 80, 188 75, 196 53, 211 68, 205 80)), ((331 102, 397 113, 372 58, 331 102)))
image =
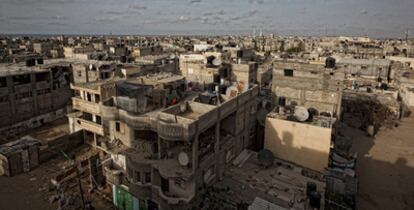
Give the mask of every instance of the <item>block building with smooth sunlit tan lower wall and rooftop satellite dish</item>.
POLYGON ((275 62, 278 112, 268 115, 264 147, 276 157, 324 172, 341 113, 344 73, 335 66, 275 62))

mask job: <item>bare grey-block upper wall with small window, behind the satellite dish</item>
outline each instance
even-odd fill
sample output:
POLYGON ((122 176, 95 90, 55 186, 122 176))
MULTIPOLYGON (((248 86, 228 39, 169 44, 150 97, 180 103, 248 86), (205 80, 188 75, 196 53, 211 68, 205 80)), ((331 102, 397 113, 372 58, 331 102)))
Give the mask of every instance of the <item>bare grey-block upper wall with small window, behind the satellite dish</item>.
MULTIPOLYGON (((316 108, 338 116, 341 110, 344 73, 342 69, 325 69, 324 65, 276 62, 273 66, 272 91, 287 103, 316 108), (293 76, 285 75, 293 70, 293 76)), ((277 103, 277 101, 275 101, 277 103)))

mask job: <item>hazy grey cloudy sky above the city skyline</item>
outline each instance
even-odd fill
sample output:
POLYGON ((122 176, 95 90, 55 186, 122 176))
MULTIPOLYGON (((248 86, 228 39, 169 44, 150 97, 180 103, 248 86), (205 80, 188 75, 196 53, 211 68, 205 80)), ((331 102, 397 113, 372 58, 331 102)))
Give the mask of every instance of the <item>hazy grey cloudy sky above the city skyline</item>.
POLYGON ((0 0, 1 34, 414 36, 414 0, 0 0))

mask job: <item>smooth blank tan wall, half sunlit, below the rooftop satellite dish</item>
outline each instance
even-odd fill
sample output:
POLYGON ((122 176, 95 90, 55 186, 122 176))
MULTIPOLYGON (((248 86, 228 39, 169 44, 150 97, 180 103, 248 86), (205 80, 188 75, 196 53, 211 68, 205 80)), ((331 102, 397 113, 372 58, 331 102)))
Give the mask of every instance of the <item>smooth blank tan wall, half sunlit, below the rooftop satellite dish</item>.
POLYGON ((266 118, 264 147, 283 160, 323 171, 328 166, 330 128, 266 118))

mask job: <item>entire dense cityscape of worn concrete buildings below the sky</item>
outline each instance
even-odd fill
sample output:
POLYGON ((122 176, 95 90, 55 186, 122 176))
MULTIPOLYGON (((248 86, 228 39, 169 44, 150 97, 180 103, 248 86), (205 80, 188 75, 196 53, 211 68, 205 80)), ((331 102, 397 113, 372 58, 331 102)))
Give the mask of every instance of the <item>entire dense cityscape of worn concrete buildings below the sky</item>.
POLYGON ((0 62, 0 209, 414 208, 408 34, 1 36, 0 62))

